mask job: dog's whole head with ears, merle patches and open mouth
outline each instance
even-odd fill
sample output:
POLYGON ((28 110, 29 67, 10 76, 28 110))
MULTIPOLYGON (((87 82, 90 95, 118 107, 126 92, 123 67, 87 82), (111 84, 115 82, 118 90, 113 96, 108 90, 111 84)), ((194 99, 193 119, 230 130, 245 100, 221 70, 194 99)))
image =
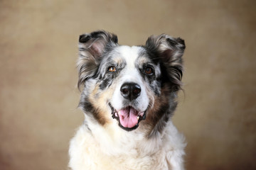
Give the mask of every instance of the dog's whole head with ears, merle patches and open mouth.
POLYGON ((176 108, 185 45, 180 38, 151 36, 144 46, 118 45, 105 31, 80 35, 82 110, 102 126, 161 130, 176 108), (144 123, 143 123, 144 122, 144 123), (160 123, 160 124, 159 124, 160 123))

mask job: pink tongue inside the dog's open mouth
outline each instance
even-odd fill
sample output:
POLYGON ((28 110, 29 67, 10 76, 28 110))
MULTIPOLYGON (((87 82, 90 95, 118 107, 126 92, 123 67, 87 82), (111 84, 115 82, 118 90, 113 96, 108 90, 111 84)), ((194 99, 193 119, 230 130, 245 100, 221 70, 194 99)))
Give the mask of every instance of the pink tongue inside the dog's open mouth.
POLYGON ((132 107, 124 108, 119 111, 119 120, 124 128, 133 128, 138 123, 138 111, 132 107))

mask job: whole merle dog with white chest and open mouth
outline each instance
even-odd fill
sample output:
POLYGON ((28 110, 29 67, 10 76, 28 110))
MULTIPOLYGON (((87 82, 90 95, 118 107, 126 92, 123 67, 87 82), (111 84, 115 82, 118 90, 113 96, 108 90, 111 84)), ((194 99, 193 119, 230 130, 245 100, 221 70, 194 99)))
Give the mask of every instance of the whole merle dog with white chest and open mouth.
POLYGON ((80 35, 78 46, 85 120, 70 141, 70 169, 184 169, 186 143, 171 122, 184 40, 151 35, 146 45, 130 47, 97 30, 80 35))

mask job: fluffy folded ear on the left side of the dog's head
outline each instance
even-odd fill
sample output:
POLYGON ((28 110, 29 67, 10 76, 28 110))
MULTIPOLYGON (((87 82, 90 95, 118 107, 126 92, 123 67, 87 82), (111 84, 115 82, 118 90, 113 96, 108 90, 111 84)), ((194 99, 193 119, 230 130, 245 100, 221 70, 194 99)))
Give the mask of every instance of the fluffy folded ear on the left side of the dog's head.
POLYGON ((78 89, 90 77, 93 77, 104 52, 117 46, 117 35, 107 33, 104 30, 95 31, 89 34, 82 34, 79 37, 79 59, 78 59, 78 89))

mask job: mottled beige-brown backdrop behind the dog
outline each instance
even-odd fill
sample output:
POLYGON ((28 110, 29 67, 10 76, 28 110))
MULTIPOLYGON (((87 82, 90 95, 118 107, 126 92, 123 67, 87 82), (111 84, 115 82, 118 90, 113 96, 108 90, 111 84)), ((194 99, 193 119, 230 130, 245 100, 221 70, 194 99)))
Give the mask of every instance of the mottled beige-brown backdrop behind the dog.
POLYGON ((0 169, 66 169, 76 107, 81 33, 105 29, 120 44, 167 33, 186 40, 174 124, 187 169, 256 169, 256 3, 0 1, 0 169))

